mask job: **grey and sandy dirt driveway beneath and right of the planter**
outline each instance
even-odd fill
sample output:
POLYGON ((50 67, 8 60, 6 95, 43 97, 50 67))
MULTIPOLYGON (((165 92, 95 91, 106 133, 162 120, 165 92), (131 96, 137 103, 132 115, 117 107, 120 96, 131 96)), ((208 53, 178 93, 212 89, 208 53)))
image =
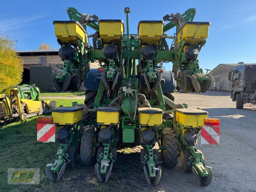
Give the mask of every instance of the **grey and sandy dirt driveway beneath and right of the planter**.
POLYGON ((189 108, 201 108, 209 117, 220 119, 220 145, 200 144, 206 165, 212 167, 212 183, 199 187, 192 173, 182 170, 180 158, 170 170, 162 167, 162 177, 157 187, 149 187, 140 173, 140 147, 128 146, 117 153, 117 170, 108 184, 99 184, 94 166, 85 168, 80 163, 58 184, 68 191, 236 191, 256 192, 256 105, 245 104, 236 109, 229 92, 208 91, 200 93, 174 93, 176 103, 186 103, 189 108), (129 152, 130 150, 130 152, 129 152), (124 153, 124 152, 125 153, 124 153))

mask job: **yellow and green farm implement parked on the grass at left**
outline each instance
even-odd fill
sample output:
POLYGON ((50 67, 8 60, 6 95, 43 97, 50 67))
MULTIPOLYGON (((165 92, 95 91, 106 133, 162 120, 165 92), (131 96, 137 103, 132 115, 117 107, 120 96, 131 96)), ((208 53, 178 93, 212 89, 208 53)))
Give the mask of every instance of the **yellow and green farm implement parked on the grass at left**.
POLYGON ((0 94, 0 124, 20 120, 25 123, 28 117, 51 112, 56 107, 54 100, 40 100, 40 91, 33 85, 15 85, 0 94))

